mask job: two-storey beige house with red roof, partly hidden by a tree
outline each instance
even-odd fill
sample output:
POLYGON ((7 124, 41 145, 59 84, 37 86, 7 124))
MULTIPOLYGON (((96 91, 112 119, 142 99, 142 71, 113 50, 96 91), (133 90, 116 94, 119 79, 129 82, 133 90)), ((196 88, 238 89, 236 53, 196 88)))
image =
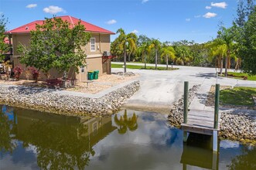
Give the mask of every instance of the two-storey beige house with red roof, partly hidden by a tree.
MULTIPOLYGON (((76 78, 78 81, 87 80, 87 70, 99 70, 99 75, 101 76, 104 73, 111 73, 111 62, 108 57, 103 57, 104 52, 109 52, 111 48, 111 35, 114 35, 114 32, 108 31, 107 29, 103 29, 98 26, 94 26, 88 22, 84 22, 83 20, 76 19, 72 16, 60 16, 58 17, 63 19, 63 21, 70 22, 71 26, 76 25, 79 21, 86 28, 86 32, 91 33, 90 42, 87 43, 87 46, 84 46, 84 50, 87 54, 86 62, 87 68, 85 66, 81 66, 79 68, 79 73, 74 73, 73 70, 70 70, 68 74, 69 78, 76 78)), ((44 20, 37 20, 34 22, 30 22, 24 26, 20 26, 16 29, 12 29, 8 32, 5 32, 6 35, 9 35, 9 39, 12 39, 12 56, 11 61, 13 66, 22 66, 24 65, 19 63, 19 53, 17 53, 17 46, 19 43, 23 45, 29 46, 30 39, 30 31, 36 29, 36 24, 42 25, 44 20)), ((49 72, 50 78, 58 78, 63 76, 62 73, 59 73, 58 70, 50 70, 49 72)), ((25 79, 26 76, 22 75, 21 78, 25 79)), ((46 80, 46 76, 41 73, 41 80, 46 80)))

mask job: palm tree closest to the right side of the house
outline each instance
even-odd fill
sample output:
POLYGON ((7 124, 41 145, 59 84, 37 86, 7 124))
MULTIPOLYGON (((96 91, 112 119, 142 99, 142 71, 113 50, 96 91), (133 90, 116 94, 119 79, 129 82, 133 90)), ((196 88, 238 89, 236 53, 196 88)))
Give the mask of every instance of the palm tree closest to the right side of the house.
POLYGON ((126 49, 136 49, 137 36, 135 35, 135 33, 132 32, 126 35, 124 29, 118 29, 117 33, 119 33, 119 36, 117 39, 115 39, 117 40, 117 43, 115 43, 117 46, 115 48, 121 49, 124 55, 124 66, 126 73, 126 49))

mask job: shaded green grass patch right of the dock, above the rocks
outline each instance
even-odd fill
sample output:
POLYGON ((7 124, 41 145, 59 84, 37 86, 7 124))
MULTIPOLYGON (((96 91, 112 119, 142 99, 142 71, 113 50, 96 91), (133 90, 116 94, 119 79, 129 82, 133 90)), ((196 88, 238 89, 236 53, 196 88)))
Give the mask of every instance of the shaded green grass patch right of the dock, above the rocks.
POLYGON ((253 96, 256 96, 256 88, 253 87, 234 87, 234 89, 220 90, 220 104, 253 107, 253 96))

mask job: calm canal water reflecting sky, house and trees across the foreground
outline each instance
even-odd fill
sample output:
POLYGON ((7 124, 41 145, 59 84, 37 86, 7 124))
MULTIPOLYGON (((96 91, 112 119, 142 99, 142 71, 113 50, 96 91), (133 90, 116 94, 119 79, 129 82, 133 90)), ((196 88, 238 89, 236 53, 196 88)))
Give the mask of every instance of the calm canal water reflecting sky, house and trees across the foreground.
POLYGON ((166 115, 121 110, 67 117, 0 106, 0 169, 256 169, 256 147, 170 128, 166 115))

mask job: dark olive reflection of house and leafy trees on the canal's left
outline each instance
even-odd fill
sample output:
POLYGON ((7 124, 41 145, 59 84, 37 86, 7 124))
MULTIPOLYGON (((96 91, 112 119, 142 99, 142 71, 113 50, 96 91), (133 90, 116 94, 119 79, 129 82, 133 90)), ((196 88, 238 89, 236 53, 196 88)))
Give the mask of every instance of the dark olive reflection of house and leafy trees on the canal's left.
POLYGON ((92 148, 115 127, 111 117, 64 117, 34 110, 2 106, 1 152, 34 146, 37 165, 43 169, 84 169, 94 155, 92 148), (18 114, 15 114, 18 113, 18 114))

